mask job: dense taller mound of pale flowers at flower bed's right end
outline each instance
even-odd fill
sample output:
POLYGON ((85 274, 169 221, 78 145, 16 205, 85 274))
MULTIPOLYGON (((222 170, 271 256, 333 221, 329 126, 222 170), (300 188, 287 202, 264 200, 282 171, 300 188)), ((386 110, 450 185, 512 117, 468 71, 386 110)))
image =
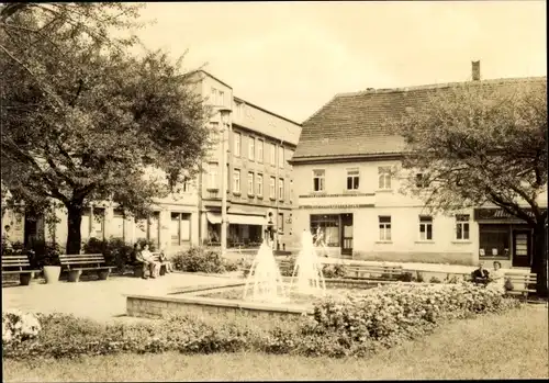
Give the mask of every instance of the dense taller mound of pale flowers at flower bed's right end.
POLYGON ((314 330, 336 333, 351 341, 392 343, 422 335, 444 319, 498 313, 518 304, 500 291, 471 283, 397 283, 325 298, 314 308, 314 330))

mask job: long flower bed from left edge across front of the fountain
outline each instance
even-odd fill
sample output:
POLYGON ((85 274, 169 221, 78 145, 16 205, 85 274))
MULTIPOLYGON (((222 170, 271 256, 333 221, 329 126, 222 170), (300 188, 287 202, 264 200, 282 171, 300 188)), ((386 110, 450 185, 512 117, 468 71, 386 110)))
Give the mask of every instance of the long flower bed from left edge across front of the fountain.
MULTIPOLYGON (((403 339, 425 336, 448 319, 501 313, 519 304, 494 290, 470 284, 392 284, 371 289, 367 294, 328 296, 315 303, 312 317, 283 317, 274 323, 272 318, 172 317, 134 325, 101 325, 67 315, 38 315, 42 330, 31 326, 34 333, 25 330, 27 336, 21 341, 2 342, 2 351, 3 358, 18 359, 168 350, 365 356, 403 339), (261 326, 260 322, 273 326, 261 326)), ((2 333, 20 322, 2 315, 2 333)))

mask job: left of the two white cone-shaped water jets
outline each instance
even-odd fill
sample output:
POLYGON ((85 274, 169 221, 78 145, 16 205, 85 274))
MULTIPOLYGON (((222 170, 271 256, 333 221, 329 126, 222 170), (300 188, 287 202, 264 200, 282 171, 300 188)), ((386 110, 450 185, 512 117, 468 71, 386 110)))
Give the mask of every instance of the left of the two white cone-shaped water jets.
POLYGON ((278 303, 287 300, 282 275, 278 268, 271 246, 264 240, 249 269, 244 286, 243 298, 278 303), (248 296, 248 292, 251 294, 248 296))

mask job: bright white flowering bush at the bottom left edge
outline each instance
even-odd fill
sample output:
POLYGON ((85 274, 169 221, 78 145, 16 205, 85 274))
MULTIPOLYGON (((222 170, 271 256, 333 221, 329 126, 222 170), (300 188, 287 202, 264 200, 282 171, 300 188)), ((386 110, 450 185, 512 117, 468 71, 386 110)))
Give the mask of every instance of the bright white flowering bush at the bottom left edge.
POLYGON ((2 313, 2 342, 22 342, 35 338, 42 329, 38 318, 32 313, 10 309, 2 313))

